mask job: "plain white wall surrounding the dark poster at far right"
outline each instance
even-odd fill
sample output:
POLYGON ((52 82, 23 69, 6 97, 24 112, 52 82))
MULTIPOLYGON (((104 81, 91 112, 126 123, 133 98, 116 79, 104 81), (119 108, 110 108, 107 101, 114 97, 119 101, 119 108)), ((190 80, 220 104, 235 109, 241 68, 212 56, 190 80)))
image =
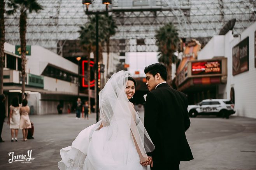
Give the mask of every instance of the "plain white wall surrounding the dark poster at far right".
POLYGON ((256 22, 241 33, 241 37, 230 38, 231 31, 225 35, 225 54, 228 56, 227 98, 230 99, 231 87, 235 90, 236 115, 256 118, 256 68, 254 67, 254 31, 256 22), (232 75, 232 48, 249 36, 249 71, 232 75), (228 46, 230 44, 230 46, 228 46))

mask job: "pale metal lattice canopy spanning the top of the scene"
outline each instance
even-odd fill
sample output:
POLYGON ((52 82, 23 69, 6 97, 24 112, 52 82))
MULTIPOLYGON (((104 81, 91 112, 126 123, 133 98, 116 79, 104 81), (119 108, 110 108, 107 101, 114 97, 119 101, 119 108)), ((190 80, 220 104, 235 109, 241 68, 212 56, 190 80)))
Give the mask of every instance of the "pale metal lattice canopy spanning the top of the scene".
MULTIPOLYGON (((40 45, 63 55, 63 47, 79 37, 79 26, 87 19, 81 0, 38 0, 44 10, 28 15, 27 45, 40 45)), ((94 0, 89 10, 105 10, 94 0)), ((233 33, 241 33, 256 21, 255 0, 112 0, 109 6, 118 26, 112 49, 118 52, 154 52, 155 30, 167 22, 176 26, 181 38, 205 44, 221 27, 235 18, 233 33), (117 48, 117 49, 116 49, 117 48)), ((19 42, 19 14, 5 15, 5 39, 19 42)))

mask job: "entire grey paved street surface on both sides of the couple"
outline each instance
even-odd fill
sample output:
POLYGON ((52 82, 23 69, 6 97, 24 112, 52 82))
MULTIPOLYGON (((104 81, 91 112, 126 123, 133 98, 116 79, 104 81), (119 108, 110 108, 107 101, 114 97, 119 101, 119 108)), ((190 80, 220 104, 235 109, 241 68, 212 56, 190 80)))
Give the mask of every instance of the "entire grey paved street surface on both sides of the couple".
MULTIPOLYGON (((140 112, 143 117, 143 112, 140 112)), ((90 119, 75 120, 75 114, 31 115, 35 139, 11 143, 11 133, 6 122, 2 133, 5 143, 0 143, 1 170, 56 170, 61 160, 60 149, 69 146, 77 134, 95 123, 95 113, 90 119), (8 160, 9 152, 26 155, 32 149, 30 163, 8 160)), ((195 160, 181 162, 181 170, 256 170, 256 119, 230 117, 191 118, 186 132, 195 160)))

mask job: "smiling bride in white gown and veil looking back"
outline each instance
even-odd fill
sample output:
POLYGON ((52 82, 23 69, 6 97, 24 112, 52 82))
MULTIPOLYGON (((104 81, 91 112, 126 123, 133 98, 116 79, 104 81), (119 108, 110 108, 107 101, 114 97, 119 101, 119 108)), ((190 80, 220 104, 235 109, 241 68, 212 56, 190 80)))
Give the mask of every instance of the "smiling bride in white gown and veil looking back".
POLYGON ((147 152, 154 145, 128 99, 136 82, 127 71, 111 76, 100 91, 101 120, 82 130, 71 146, 62 148, 61 170, 147 170, 147 152))

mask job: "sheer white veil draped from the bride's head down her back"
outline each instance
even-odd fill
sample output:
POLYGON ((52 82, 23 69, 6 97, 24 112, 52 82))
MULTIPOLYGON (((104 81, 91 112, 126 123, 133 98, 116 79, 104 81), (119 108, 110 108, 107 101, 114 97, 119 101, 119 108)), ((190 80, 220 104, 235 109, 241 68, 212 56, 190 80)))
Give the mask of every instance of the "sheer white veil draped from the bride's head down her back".
POLYGON ((154 145, 144 125, 126 96, 128 76, 128 72, 124 70, 113 74, 99 95, 102 125, 108 126, 105 140, 121 144, 123 148, 126 148, 121 149, 124 164, 128 158, 129 149, 127 148, 131 139, 136 146, 140 160, 147 160, 146 153, 154 150, 154 145))

